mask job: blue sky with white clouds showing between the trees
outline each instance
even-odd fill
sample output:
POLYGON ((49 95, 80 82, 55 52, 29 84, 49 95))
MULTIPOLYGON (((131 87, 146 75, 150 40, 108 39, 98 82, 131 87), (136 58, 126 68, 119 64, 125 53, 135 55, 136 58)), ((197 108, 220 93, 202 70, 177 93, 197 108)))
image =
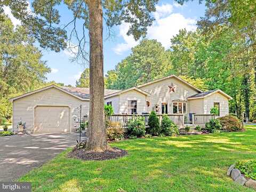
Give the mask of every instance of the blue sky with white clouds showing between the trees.
MULTIPOLYGON (((31 4, 31 3, 30 3, 31 4)), ((60 25, 64 26, 71 21, 73 15, 65 5, 59 7, 61 15, 60 25)), ((30 8, 28 7, 28 10, 30 8)), ((4 11, 9 15, 14 26, 20 25, 20 21, 15 19, 10 13, 9 7, 5 7, 4 11)), ((155 21, 153 25, 148 27, 147 38, 157 39, 161 42, 165 49, 171 45, 170 39, 179 33, 180 29, 186 28, 187 30, 195 30, 196 22, 200 17, 204 16, 205 5, 204 3, 198 4, 198 1, 193 1, 180 5, 175 1, 159 1, 156 6, 156 12, 153 13, 155 21)), ((77 22, 77 26, 82 26, 82 21, 77 22)), ((104 55, 104 73, 108 70, 115 69, 118 62, 121 62, 129 54, 131 48, 138 45, 139 41, 135 41, 132 36, 127 36, 129 25, 122 23, 120 26, 111 29, 111 37, 108 37, 108 30, 103 26, 103 55, 104 55)), ((68 28, 70 32, 71 26, 68 28)), ((82 33, 82 28, 78 28, 78 35, 82 33)), ((86 31, 87 40, 89 36, 86 31)), ((76 44, 70 42, 70 44, 76 44)), ((36 45, 38 46, 38 45, 36 45)), ((38 46, 39 47, 39 46, 38 46)), ((42 60, 47 61, 47 66, 51 68, 51 73, 47 74, 47 81, 55 81, 64 83, 65 85, 75 86, 76 80, 81 76, 84 68, 89 65, 81 65, 77 62, 71 62, 73 52, 76 50, 70 47, 59 53, 39 48, 43 53, 42 60), (72 50, 72 51, 71 51, 72 50)))

